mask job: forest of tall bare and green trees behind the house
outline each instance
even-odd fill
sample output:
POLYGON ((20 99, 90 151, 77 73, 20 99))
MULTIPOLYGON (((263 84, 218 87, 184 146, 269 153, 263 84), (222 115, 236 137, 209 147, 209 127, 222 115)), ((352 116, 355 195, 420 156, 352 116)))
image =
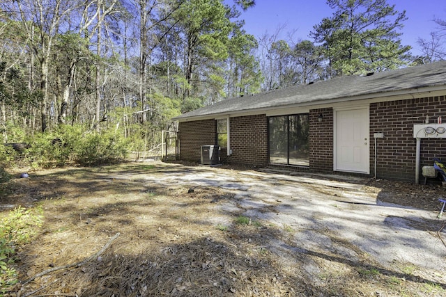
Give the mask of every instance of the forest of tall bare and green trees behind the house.
POLYGON ((443 60, 444 29, 401 44, 405 11, 328 0, 310 39, 256 38, 254 0, 0 1, 2 163, 58 166, 157 150, 176 115, 339 75, 443 60), (15 145, 17 149, 17 145, 15 145))

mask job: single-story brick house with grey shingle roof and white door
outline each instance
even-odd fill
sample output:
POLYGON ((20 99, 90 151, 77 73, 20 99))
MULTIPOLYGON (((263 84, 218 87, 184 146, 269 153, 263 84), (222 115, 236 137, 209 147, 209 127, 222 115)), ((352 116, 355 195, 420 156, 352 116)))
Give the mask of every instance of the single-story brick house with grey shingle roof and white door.
POLYGON ((174 120, 181 160, 220 145, 227 163, 418 182, 422 166, 446 160, 441 117, 446 61, 224 99, 174 120))

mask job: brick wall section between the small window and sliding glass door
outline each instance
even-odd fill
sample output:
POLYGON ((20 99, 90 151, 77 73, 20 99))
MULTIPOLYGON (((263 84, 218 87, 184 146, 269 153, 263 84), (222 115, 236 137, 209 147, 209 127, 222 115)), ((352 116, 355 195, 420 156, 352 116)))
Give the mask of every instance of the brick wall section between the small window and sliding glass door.
POLYGON ((268 164, 268 120, 266 115, 231 118, 229 163, 255 166, 268 164))

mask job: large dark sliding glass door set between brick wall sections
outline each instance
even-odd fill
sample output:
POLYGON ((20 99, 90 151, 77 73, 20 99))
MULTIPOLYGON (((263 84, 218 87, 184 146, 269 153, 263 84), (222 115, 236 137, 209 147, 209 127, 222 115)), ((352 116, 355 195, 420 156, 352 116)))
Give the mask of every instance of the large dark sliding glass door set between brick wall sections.
POLYGON ((270 163, 309 166, 309 115, 270 117, 270 163))

